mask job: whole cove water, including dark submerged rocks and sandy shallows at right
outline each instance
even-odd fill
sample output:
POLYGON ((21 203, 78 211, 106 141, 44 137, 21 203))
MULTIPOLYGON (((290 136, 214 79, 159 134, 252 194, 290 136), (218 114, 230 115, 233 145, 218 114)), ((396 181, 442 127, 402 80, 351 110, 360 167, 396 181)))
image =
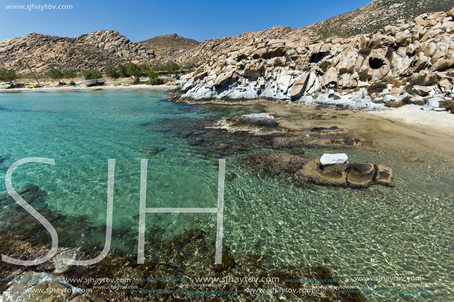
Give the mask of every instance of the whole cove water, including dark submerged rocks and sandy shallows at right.
MULTIPOLYGON (((398 110, 401 108, 388 111, 398 110)), ((50 220, 62 222, 56 226, 61 248, 77 250, 77 259, 90 259, 102 250, 107 160, 115 159, 112 246, 104 262, 112 265, 112 259, 117 259, 122 264, 105 269, 105 263, 100 263, 94 269, 104 277, 115 273, 117 277, 137 277, 134 269, 145 269, 134 263, 140 160, 149 161, 147 207, 202 208, 216 205, 217 163, 225 158, 226 264, 215 273, 247 276, 257 272, 256 264, 266 276, 280 271, 281 277, 291 273, 301 277, 303 268, 313 272, 314 267, 323 267, 317 272, 333 276, 341 285, 388 291, 401 288, 390 281, 364 282, 354 277, 416 276, 425 283, 445 283, 447 287, 424 290, 441 290, 443 301, 454 301, 449 288, 454 282, 453 140, 450 133, 436 132, 436 127, 427 125, 427 136, 443 140, 421 141, 417 136, 423 130, 411 129, 411 124, 399 125, 405 130, 394 123, 383 126, 390 122, 384 122, 382 116, 392 118, 386 116, 388 111, 358 113, 269 100, 175 102, 164 91, 129 87, 118 91, 1 93, 0 178, 4 179, 8 167, 19 159, 54 159, 52 167, 21 166, 13 175, 13 186, 18 192, 29 188, 26 196, 34 200, 31 204, 50 220), (278 127, 268 132, 233 131, 222 122, 261 112, 274 116, 278 127), (327 134, 320 130, 330 127, 337 130, 327 134), (409 130, 416 134, 406 132, 409 130), (292 135, 306 138, 293 139, 299 136, 292 135), (349 144, 350 139, 359 143, 349 144), (392 168, 396 186, 297 186, 283 174, 272 176, 245 165, 244 159, 257 153, 307 159, 346 153, 354 162, 392 168), (30 189, 30 184, 36 187, 30 189)), ((21 227, 18 217, 25 222, 33 218, 11 202, 3 185, 0 194, 0 238, 28 241, 31 251, 33 246, 48 246, 50 236, 42 227, 33 228, 33 232, 21 227)), ((159 271, 160 275, 169 276, 171 269, 173 277, 186 279, 201 272, 216 275, 206 268, 212 267, 214 260, 215 215, 148 214, 146 226, 144 267, 148 273, 157 272, 150 263, 168 262, 159 268, 165 271, 159 271)), ((13 255, 12 249, 14 246, 1 252, 13 255)), ((60 276, 84 274, 88 273, 66 268, 60 276)), ((233 289, 239 293, 238 301, 247 301, 245 287, 233 289)), ((103 295, 104 299, 124 299, 126 294, 103 295)), ((334 295, 341 297, 336 296, 339 292, 334 295)), ((307 298, 289 297, 292 301, 307 298)), ((389 293, 365 297, 367 301, 396 299, 389 293)), ((274 295, 267 298, 272 301, 274 295)), ((413 301, 413 297, 400 298, 413 301)), ((422 301, 436 299, 425 296, 422 301)))

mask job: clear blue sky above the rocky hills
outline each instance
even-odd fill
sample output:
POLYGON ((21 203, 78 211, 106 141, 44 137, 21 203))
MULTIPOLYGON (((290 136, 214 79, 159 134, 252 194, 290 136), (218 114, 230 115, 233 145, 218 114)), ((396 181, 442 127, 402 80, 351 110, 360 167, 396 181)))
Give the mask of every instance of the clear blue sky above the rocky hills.
POLYGON ((75 37, 114 29, 131 41, 177 33, 202 41, 285 25, 293 28, 349 12, 370 0, 1 0, 0 41, 30 32, 75 37), (70 10, 5 5, 69 4, 70 10))

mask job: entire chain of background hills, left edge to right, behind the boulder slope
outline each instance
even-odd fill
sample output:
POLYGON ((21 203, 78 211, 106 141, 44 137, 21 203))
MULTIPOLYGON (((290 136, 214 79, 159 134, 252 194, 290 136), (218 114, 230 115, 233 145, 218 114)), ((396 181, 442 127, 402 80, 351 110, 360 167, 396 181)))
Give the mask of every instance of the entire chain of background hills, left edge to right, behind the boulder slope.
POLYGON ((103 69, 107 64, 128 61, 150 65, 169 61, 179 64, 207 63, 213 57, 238 51, 262 40, 281 39, 302 47, 329 42, 332 38, 352 40, 358 34, 373 34, 389 24, 409 22, 422 12, 447 11, 452 6, 454 0, 373 0, 352 12, 300 29, 276 26, 236 37, 205 40, 200 44, 176 34, 134 43, 114 30, 98 31, 75 38, 31 33, 25 37, 1 41, 0 62, 20 73, 29 72, 23 59, 38 73, 51 68, 74 71, 103 69), (155 48, 156 52, 149 47, 155 48))

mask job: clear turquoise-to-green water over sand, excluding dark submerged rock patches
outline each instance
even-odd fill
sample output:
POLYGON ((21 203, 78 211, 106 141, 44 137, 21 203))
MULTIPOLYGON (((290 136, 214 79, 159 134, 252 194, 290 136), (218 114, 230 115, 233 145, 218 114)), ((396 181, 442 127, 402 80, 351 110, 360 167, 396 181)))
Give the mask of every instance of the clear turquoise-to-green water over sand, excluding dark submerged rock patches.
MULTIPOLYGON (((50 211, 84 216, 103 226, 107 161, 115 159, 112 249, 135 254, 137 245, 130 242, 137 237, 140 159, 149 160, 147 207, 216 207, 217 160, 224 156, 203 151, 206 145, 188 144, 185 131, 204 119, 254 112, 245 106, 178 104, 165 101, 167 97, 140 90, 2 93, 0 179, 19 159, 52 158, 55 166, 19 167, 13 186, 38 185, 49 194, 50 211)), ((371 135, 379 140, 381 133, 371 135)), ((441 297, 419 296, 417 301, 454 301, 454 162, 403 137, 380 141, 380 151, 338 151, 358 162, 393 168, 395 188, 297 188, 253 177, 238 164, 240 157, 270 151, 263 146, 247 145, 247 151, 227 156, 226 172, 236 177, 225 186, 224 243, 234 256, 270 255, 276 266, 322 264, 341 284, 364 290, 402 290, 396 283, 414 281, 364 282, 355 276, 421 277, 417 283, 446 287, 411 288, 442 291, 441 297), (409 156, 420 160, 405 162, 409 156)), ((306 149, 304 156, 325 151, 332 152, 306 149)), ((5 192, 1 181, 0 193, 5 192)), ((215 221, 215 214, 147 214, 146 225, 164 229, 164 238, 195 227, 214 238, 215 221)), ((96 245, 102 247, 104 230, 88 235, 71 225, 67 233, 59 233, 79 245, 98 238, 96 245)), ((396 301, 390 295, 366 297, 396 301)), ((399 299, 416 301, 412 296, 399 299)))

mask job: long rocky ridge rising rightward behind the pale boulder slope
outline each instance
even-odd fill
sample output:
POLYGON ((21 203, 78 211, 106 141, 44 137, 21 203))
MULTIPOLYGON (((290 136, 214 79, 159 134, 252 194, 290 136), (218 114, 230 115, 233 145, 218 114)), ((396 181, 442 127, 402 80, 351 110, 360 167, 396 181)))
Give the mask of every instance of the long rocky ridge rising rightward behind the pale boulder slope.
POLYGON ((373 0, 351 12, 293 29, 277 26, 267 30, 244 33, 236 37, 205 40, 191 50, 172 50, 156 55, 156 61, 178 63, 204 62, 213 55, 239 50, 257 38, 283 39, 290 43, 348 38, 358 34, 375 32, 389 24, 410 22, 422 13, 448 11, 454 0, 373 0))

